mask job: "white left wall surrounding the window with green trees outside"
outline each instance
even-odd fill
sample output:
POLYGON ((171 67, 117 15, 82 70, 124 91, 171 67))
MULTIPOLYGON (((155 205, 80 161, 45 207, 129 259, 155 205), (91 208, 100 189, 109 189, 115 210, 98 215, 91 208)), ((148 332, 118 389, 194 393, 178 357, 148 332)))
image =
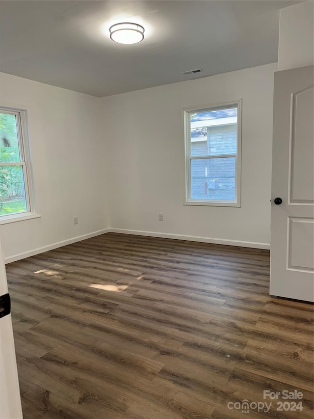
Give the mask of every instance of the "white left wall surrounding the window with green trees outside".
POLYGON ((6 261, 108 227, 100 100, 8 74, 0 76, 0 105, 28 113, 36 210, 41 215, 1 225, 6 261), (78 225, 73 217, 78 217, 78 225))

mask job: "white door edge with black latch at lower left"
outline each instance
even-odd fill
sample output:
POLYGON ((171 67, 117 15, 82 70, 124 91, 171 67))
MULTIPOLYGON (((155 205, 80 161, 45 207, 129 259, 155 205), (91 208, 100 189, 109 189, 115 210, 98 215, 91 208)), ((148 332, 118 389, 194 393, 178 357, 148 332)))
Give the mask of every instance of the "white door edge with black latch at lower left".
POLYGON ((7 306, 3 296, 7 292, 4 258, 0 242, 0 419, 21 419, 23 416, 12 320, 11 314, 4 315, 7 306))

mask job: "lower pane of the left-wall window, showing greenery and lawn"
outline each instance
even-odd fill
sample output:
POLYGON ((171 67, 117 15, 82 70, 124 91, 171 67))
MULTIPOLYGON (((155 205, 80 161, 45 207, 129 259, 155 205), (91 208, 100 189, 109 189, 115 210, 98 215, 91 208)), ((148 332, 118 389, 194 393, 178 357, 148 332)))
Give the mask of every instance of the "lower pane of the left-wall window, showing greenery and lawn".
POLYGON ((23 166, 0 166, 0 215, 25 211, 23 166))

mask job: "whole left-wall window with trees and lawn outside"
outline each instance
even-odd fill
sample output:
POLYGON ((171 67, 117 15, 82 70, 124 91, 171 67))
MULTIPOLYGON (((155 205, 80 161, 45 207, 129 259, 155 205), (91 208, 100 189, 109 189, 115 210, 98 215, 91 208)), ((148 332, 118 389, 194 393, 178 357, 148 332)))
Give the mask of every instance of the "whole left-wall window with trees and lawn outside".
POLYGON ((32 213, 26 111, 0 108, 0 222, 32 213))

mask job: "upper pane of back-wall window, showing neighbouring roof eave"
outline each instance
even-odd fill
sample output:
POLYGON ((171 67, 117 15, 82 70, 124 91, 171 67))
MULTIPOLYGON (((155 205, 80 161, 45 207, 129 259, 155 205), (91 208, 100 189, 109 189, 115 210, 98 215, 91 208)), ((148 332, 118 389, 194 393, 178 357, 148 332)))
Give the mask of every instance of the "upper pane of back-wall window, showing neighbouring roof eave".
POLYGON ((236 154, 237 108, 191 113, 191 156, 236 154))

